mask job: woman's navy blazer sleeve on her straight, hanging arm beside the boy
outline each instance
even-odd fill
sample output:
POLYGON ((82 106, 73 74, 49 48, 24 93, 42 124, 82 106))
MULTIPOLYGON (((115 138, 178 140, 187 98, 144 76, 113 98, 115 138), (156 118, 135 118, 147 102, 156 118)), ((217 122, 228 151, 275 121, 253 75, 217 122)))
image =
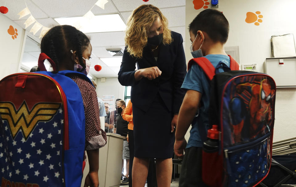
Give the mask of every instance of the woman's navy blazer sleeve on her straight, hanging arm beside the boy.
POLYGON ((173 93, 173 112, 178 114, 183 98, 185 95, 185 90, 181 89, 182 83, 186 75, 186 60, 185 53, 183 49, 183 38, 180 35, 180 40, 177 49, 177 57, 174 63, 174 73, 173 73, 173 83, 174 83, 174 93, 173 93))

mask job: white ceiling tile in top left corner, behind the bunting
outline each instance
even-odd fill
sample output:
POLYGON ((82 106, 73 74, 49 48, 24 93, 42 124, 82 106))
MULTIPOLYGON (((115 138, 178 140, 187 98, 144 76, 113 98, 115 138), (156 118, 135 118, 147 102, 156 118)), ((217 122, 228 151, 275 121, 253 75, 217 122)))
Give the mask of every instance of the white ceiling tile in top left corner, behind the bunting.
MULTIPOLYGON (((24 8, 26 8, 26 4, 24 0, 13 0, 13 1, 1 0, 0 2, 2 4, 1 6, 3 6, 4 3, 6 2, 6 7, 8 8, 8 12, 5 15, 9 17, 11 20, 18 20, 19 15, 17 14, 20 11, 22 11, 24 8)), ((48 15, 45 14, 38 6, 32 3, 31 0, 27 0, 26 3, 29 10, 31 11, 31 14, 35 19, 48 18, 48 15)), ((26 15, 21 19, 28 19, 29 16, 30 15, 26 15)))

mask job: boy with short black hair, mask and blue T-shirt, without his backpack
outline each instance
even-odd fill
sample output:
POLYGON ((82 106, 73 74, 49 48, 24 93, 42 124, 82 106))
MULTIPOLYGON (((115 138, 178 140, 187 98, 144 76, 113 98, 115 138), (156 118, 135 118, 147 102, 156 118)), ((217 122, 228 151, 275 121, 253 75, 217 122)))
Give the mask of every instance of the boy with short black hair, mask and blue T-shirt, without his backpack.
MULTIPOLYGON (((191 54, 194 58, 205 57, 214 67, 219 62, 230 66, 230 57, 224 51, 228 39, 229 24, 225 16, 215 9, 199 13, 189 25, 191 54)), ((222 67, 218 68, 223 72, 222 67)), ((210 97, 209 79, 202 68, 193 63, 184 79, 182 88, 187 89, 176 128, 175 155, 183 157, 179 186, 206 186, 202 181, 202 138, 209 129, 208 109, 210 97), (194 119, 195 118, 195 119, 194 119), (194 119, 194 121, 193 121, 194 119), (184 136, 192 123, 188 143, 184 136), (202 128, 200 128, 202 127, 202 128)))

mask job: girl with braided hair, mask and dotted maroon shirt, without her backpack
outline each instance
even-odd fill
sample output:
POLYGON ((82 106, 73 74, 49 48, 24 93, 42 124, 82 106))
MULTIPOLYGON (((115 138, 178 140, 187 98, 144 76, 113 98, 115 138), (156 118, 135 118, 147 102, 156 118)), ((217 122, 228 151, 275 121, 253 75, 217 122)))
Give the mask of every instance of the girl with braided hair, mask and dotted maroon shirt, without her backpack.
MULTIPOLYGON (((55 62, 55 72, 74 70, 87 74, 92 46, 88 37, 70 25, 51 28, 41 41, 41 53, 55 62)), ((85 114, 85 150, 88 155, 89 173, 84 186, 99 186, 99 148, 105 145, 101 130, 97 94, 91 83, 77 75, 70 78, 78 85, 85 114)))

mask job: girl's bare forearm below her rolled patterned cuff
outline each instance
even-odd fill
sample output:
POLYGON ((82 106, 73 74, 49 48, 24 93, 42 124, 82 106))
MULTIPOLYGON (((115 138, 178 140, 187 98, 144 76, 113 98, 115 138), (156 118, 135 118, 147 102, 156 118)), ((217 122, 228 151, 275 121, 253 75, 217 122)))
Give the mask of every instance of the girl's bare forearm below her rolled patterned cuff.
POLYGON ((84 187, 99 186, 99 149, 88 150, 89 172, 85 178, 84 187))

